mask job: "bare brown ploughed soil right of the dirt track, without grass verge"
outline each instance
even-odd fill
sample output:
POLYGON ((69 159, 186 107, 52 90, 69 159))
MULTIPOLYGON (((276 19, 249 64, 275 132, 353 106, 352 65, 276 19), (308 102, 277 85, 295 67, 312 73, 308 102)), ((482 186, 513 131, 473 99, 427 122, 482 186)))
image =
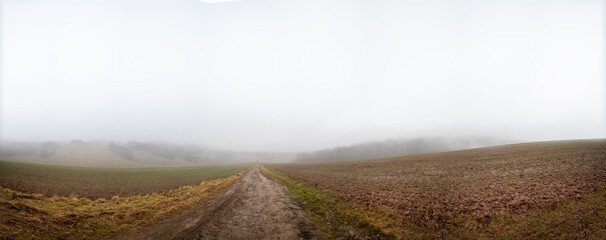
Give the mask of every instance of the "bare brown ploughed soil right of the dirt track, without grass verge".
POLYGON ((461 214, 501 212, 580 198, 606 181, 606 140, 516 144, 439 154, 323 164, 271 164, 306 184, 406 222, 440 229, 461 214))

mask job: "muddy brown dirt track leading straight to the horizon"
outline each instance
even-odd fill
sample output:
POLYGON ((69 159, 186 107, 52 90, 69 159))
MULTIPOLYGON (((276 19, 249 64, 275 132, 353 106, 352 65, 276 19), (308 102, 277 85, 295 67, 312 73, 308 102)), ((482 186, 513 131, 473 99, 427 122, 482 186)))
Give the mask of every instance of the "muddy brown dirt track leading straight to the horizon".
POLYGON ((312 239, 311 225, 287 189, 255 165, 226 192, 129 239, 312 239))

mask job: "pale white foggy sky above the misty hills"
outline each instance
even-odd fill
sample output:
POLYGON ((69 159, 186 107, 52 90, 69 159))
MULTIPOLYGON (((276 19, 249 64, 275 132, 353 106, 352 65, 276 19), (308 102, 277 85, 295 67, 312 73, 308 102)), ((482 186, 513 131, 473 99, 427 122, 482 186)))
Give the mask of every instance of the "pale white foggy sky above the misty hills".
POLYGON ((606 137, 601 0, 0 0, 0 138, 606 137))

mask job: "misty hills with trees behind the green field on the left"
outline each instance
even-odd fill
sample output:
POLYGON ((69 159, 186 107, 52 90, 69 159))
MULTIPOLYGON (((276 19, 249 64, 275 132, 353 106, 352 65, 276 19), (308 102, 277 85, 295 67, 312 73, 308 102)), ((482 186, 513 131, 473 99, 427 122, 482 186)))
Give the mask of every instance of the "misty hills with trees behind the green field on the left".
POLYGON ((0 159, 81 167, 162 167, 237 162, 292 162, 292 153, 235 152, 147 142, 2 142, 0 159))

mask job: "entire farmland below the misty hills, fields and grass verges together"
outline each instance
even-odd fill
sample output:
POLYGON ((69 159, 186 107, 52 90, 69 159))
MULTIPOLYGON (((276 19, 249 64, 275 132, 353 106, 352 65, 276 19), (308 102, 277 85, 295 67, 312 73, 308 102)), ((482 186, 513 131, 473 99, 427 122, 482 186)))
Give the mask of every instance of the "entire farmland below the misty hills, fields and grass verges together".
POLYGON ((267 229, 291 228, 264 220, 280 215, 300 225, 292 234, 320 239, 606 237, 606 140, 246 170, 251 165, 83 168, 0 161, 0 235, 219 236, 231 234, 218 231, 222 224, 236 222, 256 227, 242 234, 263 236, 267 229), (275 194, 265 199, 268 193, 275 194), (297 217, 276 208, 284 201, 301 210, 297 217), (192 225, 192 219, 202 220, 192 225))

